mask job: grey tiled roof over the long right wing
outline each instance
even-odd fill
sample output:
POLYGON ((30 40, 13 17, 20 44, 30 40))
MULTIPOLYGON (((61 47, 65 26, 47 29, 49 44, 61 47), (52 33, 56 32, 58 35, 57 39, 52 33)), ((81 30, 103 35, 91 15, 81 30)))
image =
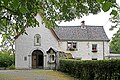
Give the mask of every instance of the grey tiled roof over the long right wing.
POLYGON ((53 29, 60 40, 106 40, 109 41, 103 26, 59 26, 53 29))

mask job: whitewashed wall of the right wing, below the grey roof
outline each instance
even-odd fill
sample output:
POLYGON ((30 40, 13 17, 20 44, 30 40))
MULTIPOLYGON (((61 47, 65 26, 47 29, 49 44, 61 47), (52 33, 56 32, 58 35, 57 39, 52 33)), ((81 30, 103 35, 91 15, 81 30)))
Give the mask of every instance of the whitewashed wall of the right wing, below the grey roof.
POLYGON ((66 41, 59 42, 59 47, 66 53, 72 53, 74 58, 81 58, 82 60, 92 60, 92 58, 103 60, 103 55, 109 54, 109 46, 106 41, 104 43, 103 41, 78 41, 77 51, 67 51, 66 41), (92 52, 92 44, 97 44, 97 52, 92 52))

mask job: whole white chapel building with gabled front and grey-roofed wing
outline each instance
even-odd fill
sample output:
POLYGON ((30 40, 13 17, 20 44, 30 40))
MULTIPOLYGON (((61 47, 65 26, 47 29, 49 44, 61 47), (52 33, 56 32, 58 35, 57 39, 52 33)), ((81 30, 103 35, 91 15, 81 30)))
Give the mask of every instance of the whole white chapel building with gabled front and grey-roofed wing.
POLYGON ((109 39, 103 26, 59 26, 48 29, 36 16, 39 27, 26 28, 28 35, 15 41, 17 69, 53 69, 59 52, 71 53, 74 59, 103 60, 109 54, 109 39))

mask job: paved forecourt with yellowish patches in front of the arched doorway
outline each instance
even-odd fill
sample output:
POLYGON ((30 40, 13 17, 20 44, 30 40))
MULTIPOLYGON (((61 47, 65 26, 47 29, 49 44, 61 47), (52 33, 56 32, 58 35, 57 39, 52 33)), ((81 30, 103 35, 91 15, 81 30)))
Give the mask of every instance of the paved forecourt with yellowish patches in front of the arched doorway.
POLYGON ((75 80, 53 70, 0 70, 0 80, 75 80))

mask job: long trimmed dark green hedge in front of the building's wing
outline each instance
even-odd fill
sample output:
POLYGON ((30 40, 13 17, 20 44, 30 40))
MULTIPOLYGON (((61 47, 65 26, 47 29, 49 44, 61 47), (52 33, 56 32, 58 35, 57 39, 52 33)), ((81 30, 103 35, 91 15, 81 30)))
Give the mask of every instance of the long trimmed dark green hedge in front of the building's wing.
POLYGON ((120 80, 120 60, 60 60, 60 71, 79 80, 120 80))

